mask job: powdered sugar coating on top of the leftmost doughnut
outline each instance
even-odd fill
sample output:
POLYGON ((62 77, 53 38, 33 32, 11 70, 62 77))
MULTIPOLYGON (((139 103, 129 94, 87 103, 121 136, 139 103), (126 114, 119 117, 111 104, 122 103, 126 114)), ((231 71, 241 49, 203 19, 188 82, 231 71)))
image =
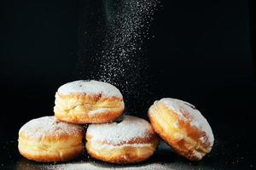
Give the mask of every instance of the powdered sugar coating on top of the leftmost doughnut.
POLYGON ((19 133, 24 133, 29 138, 39 139, 47 136, 59 136, 61 134, 75 136, 81 131, 83 131, 83 127, 79 125, 60 122, 55 116, 43 116, 26 122, 20 128, 19 133))

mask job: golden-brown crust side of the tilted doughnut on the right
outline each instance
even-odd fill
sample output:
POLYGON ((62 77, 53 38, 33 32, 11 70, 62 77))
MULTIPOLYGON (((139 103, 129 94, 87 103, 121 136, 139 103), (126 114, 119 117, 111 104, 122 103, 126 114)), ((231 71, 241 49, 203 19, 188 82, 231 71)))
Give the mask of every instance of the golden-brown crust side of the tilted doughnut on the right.
POLYGON ((154 131, 172 146, 177 154, 191 161, 200 161, 212 150, 212 144, 204 131, 179 119, 177 113, 166 105, 154 103, 148 110, 148 117, 154 131))

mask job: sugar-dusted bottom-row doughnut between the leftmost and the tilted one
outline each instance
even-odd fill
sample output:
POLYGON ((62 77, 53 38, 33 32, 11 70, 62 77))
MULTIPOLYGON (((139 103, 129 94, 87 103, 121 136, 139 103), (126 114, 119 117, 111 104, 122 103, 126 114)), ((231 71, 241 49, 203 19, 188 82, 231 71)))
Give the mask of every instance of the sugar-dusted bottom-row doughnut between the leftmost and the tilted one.
POLYGON ((111 163, 145 161, 158 144, 149 122, 136 116, 123 116, 120 122, 90 124, 85 139, 91 157, 111 163))

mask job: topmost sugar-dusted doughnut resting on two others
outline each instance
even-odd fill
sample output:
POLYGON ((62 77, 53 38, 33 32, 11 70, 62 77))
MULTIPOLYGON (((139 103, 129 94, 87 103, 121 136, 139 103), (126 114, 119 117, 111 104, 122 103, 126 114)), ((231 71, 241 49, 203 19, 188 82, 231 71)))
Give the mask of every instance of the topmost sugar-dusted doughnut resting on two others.
POLYGON ((119 89, 107 82, 68 82, 55 94, 55 117, 64 122, 113 122, 124 108, 119 89))

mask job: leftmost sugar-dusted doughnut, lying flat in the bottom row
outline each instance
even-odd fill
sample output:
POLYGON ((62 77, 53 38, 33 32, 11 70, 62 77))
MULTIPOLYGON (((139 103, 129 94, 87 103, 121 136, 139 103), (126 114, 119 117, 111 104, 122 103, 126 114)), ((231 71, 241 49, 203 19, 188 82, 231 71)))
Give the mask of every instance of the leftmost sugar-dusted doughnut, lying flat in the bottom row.
POLYGON ((44 116, 19 131, 20 154, 32 161, 68 161, 83 152, 83 127, 44 116))

